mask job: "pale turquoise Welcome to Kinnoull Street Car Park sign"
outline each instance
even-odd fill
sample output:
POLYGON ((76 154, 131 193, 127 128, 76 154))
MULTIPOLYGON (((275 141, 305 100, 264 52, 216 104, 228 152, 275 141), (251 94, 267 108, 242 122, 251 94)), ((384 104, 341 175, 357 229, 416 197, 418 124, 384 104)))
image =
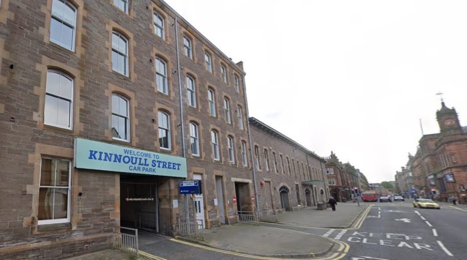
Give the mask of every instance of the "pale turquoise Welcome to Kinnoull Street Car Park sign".
POLYGON ((187 177, 185 158, 81 138, 75 139, 75 167, 119 173, 187 177))

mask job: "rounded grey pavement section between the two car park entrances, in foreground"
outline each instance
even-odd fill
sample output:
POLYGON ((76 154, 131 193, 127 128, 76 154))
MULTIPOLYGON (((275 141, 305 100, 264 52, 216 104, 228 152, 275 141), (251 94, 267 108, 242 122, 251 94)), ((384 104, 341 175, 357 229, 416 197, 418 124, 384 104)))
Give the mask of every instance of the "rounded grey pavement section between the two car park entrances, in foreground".
POLYGON ((330 252, 335 245, 333 241, 314 234, 242 223, 207 229, 205 241, 189 237, 178 238, 217 249, 263 257, 318 257, 330 252))

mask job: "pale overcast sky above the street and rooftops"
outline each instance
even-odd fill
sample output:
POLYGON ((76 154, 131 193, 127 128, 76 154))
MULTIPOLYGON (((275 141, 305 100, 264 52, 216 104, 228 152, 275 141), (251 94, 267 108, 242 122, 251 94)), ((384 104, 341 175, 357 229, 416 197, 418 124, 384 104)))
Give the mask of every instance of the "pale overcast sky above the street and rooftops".
POLYGON ((467 125, 467 1, 166 0, 233 61, 249 116, 393 180, 440 95, 467 125))

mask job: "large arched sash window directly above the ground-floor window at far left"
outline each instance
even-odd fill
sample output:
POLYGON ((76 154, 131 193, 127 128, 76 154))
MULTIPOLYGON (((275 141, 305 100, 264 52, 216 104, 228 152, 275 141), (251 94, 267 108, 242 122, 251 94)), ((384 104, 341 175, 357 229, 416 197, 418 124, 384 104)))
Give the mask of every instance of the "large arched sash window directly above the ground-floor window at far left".
POLYGON ((44 124, 72 129, 73 80, 67 75, 47 72, 44 124))

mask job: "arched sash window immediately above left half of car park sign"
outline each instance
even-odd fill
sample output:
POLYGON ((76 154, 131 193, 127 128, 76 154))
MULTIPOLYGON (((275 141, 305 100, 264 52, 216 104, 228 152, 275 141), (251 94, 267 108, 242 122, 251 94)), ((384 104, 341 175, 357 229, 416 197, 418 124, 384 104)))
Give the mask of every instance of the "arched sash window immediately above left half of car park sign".
POLYGON ((130 141, 130 112, 128 100, 121 95, 112 94, 112 137, 130 141))

